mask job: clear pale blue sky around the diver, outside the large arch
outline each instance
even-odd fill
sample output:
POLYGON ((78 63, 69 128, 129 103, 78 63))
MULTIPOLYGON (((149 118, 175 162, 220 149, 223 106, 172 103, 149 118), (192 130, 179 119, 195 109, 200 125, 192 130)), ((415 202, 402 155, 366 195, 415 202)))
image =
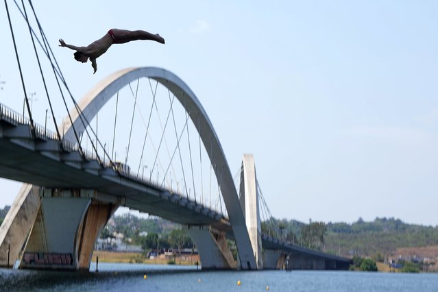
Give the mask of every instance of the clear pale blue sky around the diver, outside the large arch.
MULTIPOLYGON (((14 11, 17 34, 28 34, 14 11)), ((437 1, 34 1, 73 95, 128 66, 160 66, 195 92, 230 169, 244 153, 278 218, 438 224, 437 1), (166 45, 88 45, 112 27, 160 33, 166 45)), ((0 102, 23 93, 0 5, 0 102)), ((21 52, 32 47, 19 43, 21 52)), ((32 69, 29 69, 29 71, 32 69)), ((35 86, 36 87, 36 86, 35 86)), ((42 89, 32 88, 36 97, 42 89)), ((45 108, 34 111, 43 114, 45 108)), ((42 115, 40 114, 40 116, 42 115)), ((0 180, 0 206, 19 184, 0 180)))

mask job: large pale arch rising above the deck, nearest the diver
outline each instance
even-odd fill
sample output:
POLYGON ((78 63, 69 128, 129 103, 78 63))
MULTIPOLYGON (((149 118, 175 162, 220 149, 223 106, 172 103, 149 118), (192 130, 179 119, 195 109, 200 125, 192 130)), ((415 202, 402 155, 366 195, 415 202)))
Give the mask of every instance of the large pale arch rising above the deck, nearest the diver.
MULTIPOLYGON (((193 125, 195 125, 202 139, 202 143, 204 143, 204 147, 208 149, 207 153, 215 170, 217 182, 221 188, 228 217, 230 217, 234 239, 241 260, 241 268, 257 269, 256 258, 252 250, 250 236, 245 223, 245 216, 243 215, 230 167, 228 167, 228 162, 223 153, 219 138, 217 138, 210 119, 208 119, 195 93, 193 93, 178 76, 165 69, 156 67, 134 67, 112 73, 104 78, 104 80, 101 80, 101 82, 91 89, 78 103, 79 108, 82 110, 83 117, 85 117, 87 121, 91 121, 106 102, 114 97, 118 90, 141 77, 149 77, 156 80, 171 90, 189 114, 193 125)), ((78 119, 79 114, 77 110, 71 110, 70 114, 75 131, 77 133, 84 132, 86 125, 82 123, 81 119, 78 119)), ((69 118, 64 119, 64 125, 66 132, 63 139, 66 141, 75 141, 73 127, 71 127, 69 118)))

